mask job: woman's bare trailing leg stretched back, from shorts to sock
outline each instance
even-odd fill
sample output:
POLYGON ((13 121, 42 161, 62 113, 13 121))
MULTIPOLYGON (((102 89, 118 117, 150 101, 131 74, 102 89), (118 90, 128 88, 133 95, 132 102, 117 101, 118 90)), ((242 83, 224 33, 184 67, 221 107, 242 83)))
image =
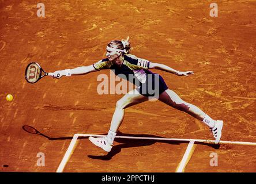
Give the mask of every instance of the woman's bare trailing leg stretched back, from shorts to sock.
POLYGON ((204 120, 205 113, 199 109, 197 106, 189 104, 183 101, 178 94, 176 94, 172 90, 165 90, 163 93, 160 94, 159 100, 164 102, 167 105, 172 106, 175 109, 181 110, 190 114, 191 116, 197 118, 198 120, 204 120))

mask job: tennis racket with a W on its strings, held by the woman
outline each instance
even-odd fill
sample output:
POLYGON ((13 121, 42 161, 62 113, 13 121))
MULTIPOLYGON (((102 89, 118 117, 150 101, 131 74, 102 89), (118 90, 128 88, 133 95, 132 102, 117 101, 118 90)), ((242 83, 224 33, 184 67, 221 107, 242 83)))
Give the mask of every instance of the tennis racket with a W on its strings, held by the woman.
POLYGON ((54 74, 45 72, 43 68, 36 62, 29 63, 25 70, 25 79, 28 83, 36 83, 47 75, 53 76, 54 74))

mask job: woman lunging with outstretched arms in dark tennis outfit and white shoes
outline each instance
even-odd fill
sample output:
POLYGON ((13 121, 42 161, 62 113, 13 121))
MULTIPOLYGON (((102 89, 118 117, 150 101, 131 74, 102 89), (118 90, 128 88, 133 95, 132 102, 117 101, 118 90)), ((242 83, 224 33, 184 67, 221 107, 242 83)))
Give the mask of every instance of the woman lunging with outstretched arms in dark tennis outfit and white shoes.
POLYGON ((174 91, 168 89, 164 79, 160 75, 154 74, 148 69, 163 70, 179 76, 188 76, 189 74, 193 74, 193 71, 177 71, 164 64, 153 63, 148 60, 138 58, 131 55, 130 51, 131 47, 129 37, 127 40, 114 40, 107 45, 106 59, 100 60, 91 66, 77 67, 71 70, 67 69, 54 72, 53 78, 61 78, 64 75, 71 76, 88 74, 89 72, 100 71, 103 69, 114 70, 116 75, 122 74, 126 76, 126 79, 130 79, 130 76, 133 76, 131 82, 133 82, 137 88, 129 91, 129 93, 116 102, 116 108, 112 117, 108 135, 97 138, 89 137, 89 140, 98 147, 103 148, 103 150, 110 152, 116 132, 122 124, 125 109, 129 106, 147 101, 150 97, 154 97, 159 99, 161 102, 164 102, 178 110, 182 110, 183 112, 186 112, 204 122, 204 124, 206 124, 213 133, 213 137, 215 139, 214 143, 218 144, 221 138, 223 121, 213 120, 197 106, 180 99, 174 91), (153 93, 151 93, 152 89, 154 89, 153 93))

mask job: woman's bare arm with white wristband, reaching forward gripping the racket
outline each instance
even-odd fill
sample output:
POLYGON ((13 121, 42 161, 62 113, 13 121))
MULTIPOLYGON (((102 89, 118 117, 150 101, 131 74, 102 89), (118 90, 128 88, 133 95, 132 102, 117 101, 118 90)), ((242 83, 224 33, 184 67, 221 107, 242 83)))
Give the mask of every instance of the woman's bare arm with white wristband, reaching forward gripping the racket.
POLYGON ((55 71, 53 74, 53 78, 61 78, 62 76, 70 76, 70 75, 84 75, 88 74, 89 72, 97 71, 92 65, 86 67, 77 67, 73 69, 66 69, 66 70, 58 70, 55 71))

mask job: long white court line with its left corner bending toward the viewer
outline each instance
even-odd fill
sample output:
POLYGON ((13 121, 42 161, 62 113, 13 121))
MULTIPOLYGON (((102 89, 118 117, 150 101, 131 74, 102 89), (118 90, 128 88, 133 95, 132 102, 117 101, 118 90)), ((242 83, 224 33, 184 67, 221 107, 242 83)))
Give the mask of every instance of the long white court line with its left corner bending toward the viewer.
MULTIPOLYGON (((69 148, 67 148, 67 151, 59 164, 59 167, 57 169, 57 173, 62 173, 63 169, 66 166, 66 163, 68 162, 73 150, 74 146, 76 144, 76 141, 78 137, 103 137, 106 135, 94 135, 94 134, 81 134, 81 133, 76 133, 73 136, 73 139, 70 142, 69 148)), ((130 136, 115 136, 116 138, 122 138, 122 139, 146 139, 146 140, 170 140, 170 141, 188 141, 191 143, 193 141, 193 144, 195 142, 199 143, 214 143, 214 140, 204 140, 204 139, 174 139, 174 138, 161 138, 161 137, 130 137, 130 136)), ((256 143, 253 142, 243 142, 243 141, 220 141, 220 143, 226 143, 226 144, 241 144, 241 145, 256 145, 256 143)), ((191 144, 190 144, 191 145, 191 144)), ((189 148, 189 146, 188 146, 189 148)), ((187 149, 188 149, 187 148, 187 149)), ((186 153, 185 153, 186 154, 186 153)))

